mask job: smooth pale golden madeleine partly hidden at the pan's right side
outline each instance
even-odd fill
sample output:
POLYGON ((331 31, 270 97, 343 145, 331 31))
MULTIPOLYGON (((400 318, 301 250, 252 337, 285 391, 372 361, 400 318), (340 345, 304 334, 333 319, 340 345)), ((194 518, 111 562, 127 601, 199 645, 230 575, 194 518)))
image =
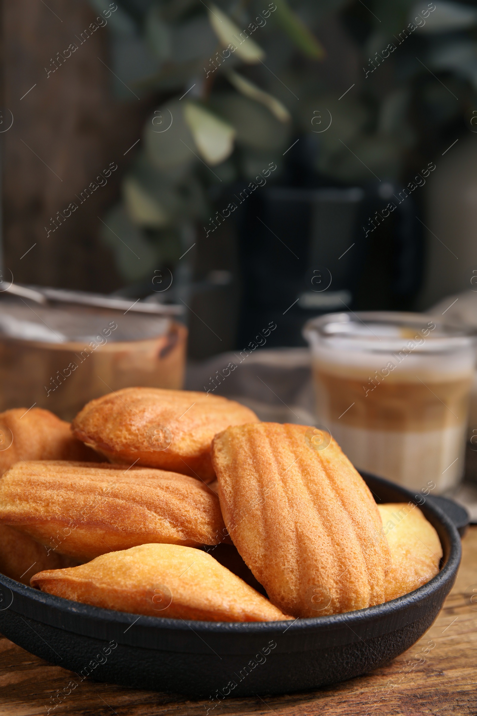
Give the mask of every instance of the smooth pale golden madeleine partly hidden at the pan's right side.
POLYGON ((438 533, 413 503, 378 505, 383 533, 391 552, 385 580, 386 601, 426 584, 439 571, 442 557, 438 533))

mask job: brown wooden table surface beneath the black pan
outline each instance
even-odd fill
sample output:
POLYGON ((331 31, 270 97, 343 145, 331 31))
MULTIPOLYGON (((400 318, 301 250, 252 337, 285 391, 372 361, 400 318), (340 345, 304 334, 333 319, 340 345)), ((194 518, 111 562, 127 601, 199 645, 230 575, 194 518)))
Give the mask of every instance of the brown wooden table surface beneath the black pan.
MULTIPOLYGON (((477 526, 463 538, 461 568, 441 614, 425 636, 392 664, 314 692, 226 700, 215 716, 274 711, 281 716, 476 716, 477 599, 476 604, 470 599, 474 585, 477 594, 477 526), (415 659, 426 647, 430 651, 425 661, 415 659)), ((0 637, 0 715, 46 716, 50 696, 70 676, 72 672, 0 637)), ((50 715, 205 716, 205 704, 205 700, 84 681, 50 715)))

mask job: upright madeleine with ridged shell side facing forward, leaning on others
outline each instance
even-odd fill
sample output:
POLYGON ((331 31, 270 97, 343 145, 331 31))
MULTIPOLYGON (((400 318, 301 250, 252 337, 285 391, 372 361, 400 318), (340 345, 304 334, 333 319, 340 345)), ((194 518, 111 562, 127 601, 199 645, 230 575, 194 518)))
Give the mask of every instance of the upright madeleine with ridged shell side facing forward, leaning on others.
POLYGON ((378 508, 328 433, 229 427, 212 460, 225 525, 272 604, 322 616, 384 601, 390 553, 378 508))

